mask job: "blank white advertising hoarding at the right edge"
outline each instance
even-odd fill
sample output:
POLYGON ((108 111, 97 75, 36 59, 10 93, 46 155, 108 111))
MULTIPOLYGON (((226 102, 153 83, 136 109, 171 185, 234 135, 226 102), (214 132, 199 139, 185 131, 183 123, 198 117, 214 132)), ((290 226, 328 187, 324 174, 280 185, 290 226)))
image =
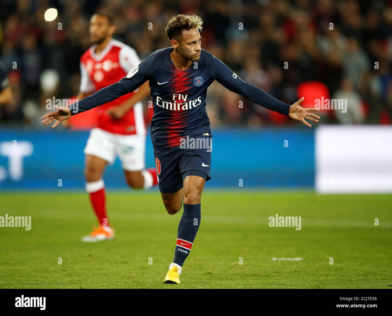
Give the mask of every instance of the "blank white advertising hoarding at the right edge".
POLYGON ((392 126, 320 126, 316 191, 392 192, 392 126))

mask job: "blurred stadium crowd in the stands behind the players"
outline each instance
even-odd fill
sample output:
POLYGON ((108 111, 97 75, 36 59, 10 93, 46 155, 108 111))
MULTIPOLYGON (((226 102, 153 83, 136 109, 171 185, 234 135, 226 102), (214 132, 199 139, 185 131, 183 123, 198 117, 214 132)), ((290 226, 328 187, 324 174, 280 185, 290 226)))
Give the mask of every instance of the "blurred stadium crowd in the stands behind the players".
MULTIPOLYGON (((346 112, 325 111, 320 123, 392 121, 390 0, 0 0, 0 6, 0 60, 14 96, 0 106, 2 126, 41 126, 47 99, 78 93, 79 59, 91 45, 89 18, 96 11, 114 15, 115 38, 141 59, 170 45, 164 28, 172 16, 198 14, 202 48, 244 81, 289 104, 305 92, 305 106, 313 107, 306 93, 317 95, 315 89, 347 99, 346 112), (58 16, 47 22, 50 7, 58 16)), ((216 82, 207 93, 207 112, 212 128, 295 124, 216 82)))

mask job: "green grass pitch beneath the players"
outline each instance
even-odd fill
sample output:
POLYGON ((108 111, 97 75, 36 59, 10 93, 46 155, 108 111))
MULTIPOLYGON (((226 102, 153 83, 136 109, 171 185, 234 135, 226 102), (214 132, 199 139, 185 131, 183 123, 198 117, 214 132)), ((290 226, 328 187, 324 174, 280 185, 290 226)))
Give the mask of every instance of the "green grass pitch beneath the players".
POLYGON ((116 239, 98 243, 80 240, 96 224, 87 194, 3 192, 0 216, 31 216, 31 230, 0 228, 0 288, 392 288, 391 205, 390 194, 206 190, 177 285, 163 278, 182 210, 167 214, 158 191, 109 191, 116 239), (301 230, 269 227, 275 214, 301 216, 301 230))

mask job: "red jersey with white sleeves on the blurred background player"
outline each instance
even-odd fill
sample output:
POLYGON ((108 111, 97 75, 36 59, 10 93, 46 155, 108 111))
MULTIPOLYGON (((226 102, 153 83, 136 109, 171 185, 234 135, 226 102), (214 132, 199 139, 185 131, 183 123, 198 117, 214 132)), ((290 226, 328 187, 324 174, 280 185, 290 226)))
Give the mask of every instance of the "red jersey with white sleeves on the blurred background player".
MULTIPOLYGON (((136 51, 120 41, 112 39, 98 55, 94 52, 95 47, 94 44, 80 57, 81 92, 96 92, 110 86, 125 77, 140 63, 136 51)), ((131 96, 132 93, 127 93, 99 106, 97 127, 115 134, 145 135, 143 108, 140 102, 136 103, 120 120, 115 120, 106 113, 109 108, 122 104, 131 96)))

